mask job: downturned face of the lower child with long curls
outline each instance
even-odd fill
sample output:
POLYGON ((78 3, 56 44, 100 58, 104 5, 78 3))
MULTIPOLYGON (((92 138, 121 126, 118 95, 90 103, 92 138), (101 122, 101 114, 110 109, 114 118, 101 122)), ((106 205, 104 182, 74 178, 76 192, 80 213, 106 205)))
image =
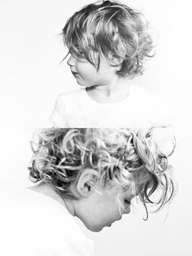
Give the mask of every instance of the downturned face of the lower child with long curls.
POLYGON ((133 199, 132 189, 122 192, 114 185, 112 188, 95 188, 89 197, 81 201, 79 218, 85 226, 99 232, 103 227, 110 227, 120 220, 123 214, 130 213, 130 201, 133 199))

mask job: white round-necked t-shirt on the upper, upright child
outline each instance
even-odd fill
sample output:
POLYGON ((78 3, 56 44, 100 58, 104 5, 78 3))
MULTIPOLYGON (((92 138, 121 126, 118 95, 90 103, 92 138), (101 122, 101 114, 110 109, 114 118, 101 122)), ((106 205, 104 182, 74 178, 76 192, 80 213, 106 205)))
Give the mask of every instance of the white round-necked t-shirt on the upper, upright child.
POLYGON ((117 103, 98 103, 85 88, 60 94, 50 117, 59 128, 127 128, 168 126, 168 115, 155 92, 130 86, 129 96, 117 103))

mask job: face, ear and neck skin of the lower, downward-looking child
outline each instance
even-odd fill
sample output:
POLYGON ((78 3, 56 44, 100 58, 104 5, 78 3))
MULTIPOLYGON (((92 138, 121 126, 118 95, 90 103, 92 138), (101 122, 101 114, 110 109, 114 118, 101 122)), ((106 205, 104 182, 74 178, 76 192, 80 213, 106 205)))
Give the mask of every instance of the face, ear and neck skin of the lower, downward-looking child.
POLYGON ((77 200, 61 198, 59 193, 43 182, 30 189, 50 196, 66 207, 70 214, 80 218, 90 231, 99 232, 120 220, 123 214, 130 213, 133 191, 129 188, 123 192, 117 185, 110 188, 98 186, 93 182, 97 174, 94 170, 85 169, 77 184, 72 184, 71 189, 77 200))

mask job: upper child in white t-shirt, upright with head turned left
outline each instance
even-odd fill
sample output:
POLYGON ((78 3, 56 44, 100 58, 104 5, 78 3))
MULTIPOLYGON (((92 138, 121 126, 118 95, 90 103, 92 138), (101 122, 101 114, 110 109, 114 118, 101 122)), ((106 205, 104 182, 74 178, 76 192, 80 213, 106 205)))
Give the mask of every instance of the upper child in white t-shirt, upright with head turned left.
POLYGON ((76 11, 62 35, 68 66, 81 88, 59 95, 53 126, 168 126, 157 96, 130 83, 152 56, 142 13, 117 1, 95 2, 76 11))

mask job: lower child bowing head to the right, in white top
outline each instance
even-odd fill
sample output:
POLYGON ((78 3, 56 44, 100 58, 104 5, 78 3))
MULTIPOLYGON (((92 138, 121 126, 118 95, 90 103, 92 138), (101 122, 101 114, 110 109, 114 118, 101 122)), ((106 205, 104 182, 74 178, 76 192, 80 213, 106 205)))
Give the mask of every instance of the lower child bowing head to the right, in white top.
POLYGON ((99 232, 129 214, 135 196, 146 213, 148 205, 162 208, 174 192, 168 176, 171 152, 163 152, 155 133, 41 130, 29 168, 37 184, 1 199, 3 255, 93 255, 91 241, 73 216, 99 232))

